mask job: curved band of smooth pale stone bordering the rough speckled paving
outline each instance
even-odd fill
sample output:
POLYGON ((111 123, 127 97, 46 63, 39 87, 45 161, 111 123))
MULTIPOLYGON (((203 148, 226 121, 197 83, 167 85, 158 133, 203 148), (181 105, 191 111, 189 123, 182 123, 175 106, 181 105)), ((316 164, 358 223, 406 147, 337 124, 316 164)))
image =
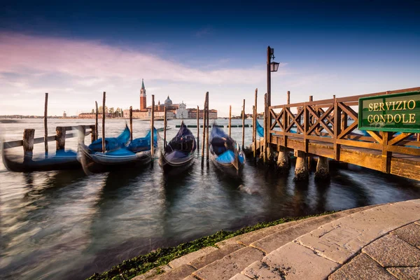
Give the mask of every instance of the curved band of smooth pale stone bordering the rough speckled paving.
POLYGON ((326 279, 367 244, 419 219, 420 200, 356 211, 283 244, 231 279, 326 279))

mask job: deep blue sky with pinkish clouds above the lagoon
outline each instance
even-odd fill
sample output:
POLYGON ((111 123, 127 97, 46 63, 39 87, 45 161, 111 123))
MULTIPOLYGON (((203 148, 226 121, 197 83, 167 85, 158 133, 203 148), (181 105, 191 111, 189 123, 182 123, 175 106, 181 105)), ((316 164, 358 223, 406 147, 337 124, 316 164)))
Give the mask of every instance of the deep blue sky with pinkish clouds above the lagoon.
POLYGON ((0 115, 139 107, 167 96, 218 116, 420 86, 420 1, 1 1, 0 115))

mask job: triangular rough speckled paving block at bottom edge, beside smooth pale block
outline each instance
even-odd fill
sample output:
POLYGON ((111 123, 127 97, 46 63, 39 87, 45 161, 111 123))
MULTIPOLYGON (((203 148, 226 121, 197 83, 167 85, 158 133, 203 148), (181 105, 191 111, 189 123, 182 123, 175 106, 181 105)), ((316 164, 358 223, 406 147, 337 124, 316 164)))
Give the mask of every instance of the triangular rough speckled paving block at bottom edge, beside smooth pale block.
POLYGON ((395 280, 395 277, 386 272, 377 262, 372 260, 365 253, 356 255, 350 262, 346 263, 337 271, 332 273, 328 280, 356 280, 356 279, 381 279, 395 280))

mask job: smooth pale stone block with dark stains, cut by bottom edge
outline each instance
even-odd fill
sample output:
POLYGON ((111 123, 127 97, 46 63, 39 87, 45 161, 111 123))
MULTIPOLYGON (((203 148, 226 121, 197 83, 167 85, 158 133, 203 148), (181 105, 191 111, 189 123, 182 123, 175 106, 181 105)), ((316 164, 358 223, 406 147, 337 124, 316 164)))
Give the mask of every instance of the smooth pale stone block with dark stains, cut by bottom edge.
POLYGON ((251 279, 326 279, 337 267, 337 262, 290 242, 246 267, 242 274, 251 279))

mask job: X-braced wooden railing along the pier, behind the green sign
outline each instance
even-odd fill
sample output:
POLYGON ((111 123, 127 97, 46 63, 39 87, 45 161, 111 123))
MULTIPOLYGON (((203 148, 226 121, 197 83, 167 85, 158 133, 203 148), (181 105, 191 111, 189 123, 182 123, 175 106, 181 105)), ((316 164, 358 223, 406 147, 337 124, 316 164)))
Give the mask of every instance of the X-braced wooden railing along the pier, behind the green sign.
POLYGON ((366 131, 368 136, 355 134, 353 132, 358 129, 355 107, 360 97, 417 90, 420 87, 270 106, 272 123, 269 123, 267 142, 315 155, 318 155, 316 146, 309 146, 324 144, 328 146, 328 151, 323 151, 322 156, 335 160, 341 160, 342 147, 369 149, 381 155, 381 168, 375 169, 389 173, 393 153, 420 156, 419 134, 414 139, 413 133, 366 131), (288 143, 290 139, 293 139, 293 144, 288 143))

